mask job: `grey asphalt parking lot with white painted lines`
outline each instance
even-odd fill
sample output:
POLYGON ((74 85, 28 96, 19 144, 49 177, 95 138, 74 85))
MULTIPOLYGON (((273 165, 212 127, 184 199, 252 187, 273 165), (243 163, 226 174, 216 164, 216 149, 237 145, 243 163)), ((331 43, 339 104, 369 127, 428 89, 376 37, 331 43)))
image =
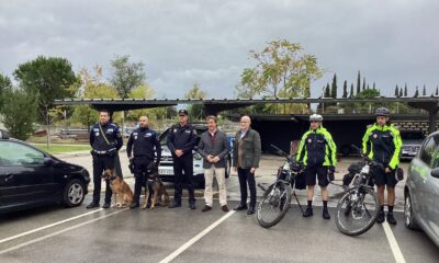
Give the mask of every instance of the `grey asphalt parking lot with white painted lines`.
MULTIPOLYGON (((68 161, 89 169, 88 157, 68 161)), ((337 178, 351 161, 340 162, 337 178)), ((264 157, 257 181, 272 182, 281 162, 264 157)), ((239 197, 236 176, 227 186, 234 207, 239 197)), ((331 185, 330 191, 334 207, 340 190, 331 185)), ((301 202, 304 194, 299 192, 301 202)), ((318 192, 314 217, 303 218, 294 204, 271 229, 261 228, 245 213, 223 213, 217 201, 207 213, 201 213, 202 198, 196 210, 190 210, 187 202, 176 209, 88 210, 88 195, 82 206, 71 209, 49 206, 0 216, 0 262, 437 262, 439 249, 426 235, 404 227, 403 197, 399 191, 397 195, 398 225, 375 225, 356 238, 340 233, 334 219, 322 218, 318 192)), ((334 208, 330 213, 334 218, 334 208)))

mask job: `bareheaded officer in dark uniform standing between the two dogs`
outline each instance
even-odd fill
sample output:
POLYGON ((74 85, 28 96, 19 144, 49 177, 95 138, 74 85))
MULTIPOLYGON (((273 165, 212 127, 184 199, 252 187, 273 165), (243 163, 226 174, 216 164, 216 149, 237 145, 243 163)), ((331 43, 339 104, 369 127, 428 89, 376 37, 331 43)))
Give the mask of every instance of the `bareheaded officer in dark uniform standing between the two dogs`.
POLYGON ((134 164, 134 201, 130 206, 132 209, 139 206, 138 199, 140 197, 142 185, 146 181, 146 172, 149 163, 156 158, 156 165, 158 165, 161 157, 161 146, 158 141, 158 135, 153 129, 149 129, 148 118, 142 116, 138 122, 140 127, 131 134, 126 144, 126 153, 130 161, 134 164))

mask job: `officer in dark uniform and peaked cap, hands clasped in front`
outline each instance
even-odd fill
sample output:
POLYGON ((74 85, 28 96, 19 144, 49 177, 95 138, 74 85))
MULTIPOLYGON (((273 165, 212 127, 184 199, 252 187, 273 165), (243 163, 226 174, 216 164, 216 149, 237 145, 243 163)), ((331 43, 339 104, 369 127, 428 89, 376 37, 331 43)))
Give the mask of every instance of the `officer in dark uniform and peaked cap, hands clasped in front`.
POLYGON ((173 159, 173 183, 175 195, 173 201, 169 204, 169 208, 181 206, 182 181, 188 183, 189 207, 196 209, 193 176, 193 153, 192 150, 196 145, 196 132, 192 124, 188 122, 188 111, 179 111, 179 124, 173 125, 168 135, 168 148, 173 159), (183 173, 184 172, 184 173, 183 173))

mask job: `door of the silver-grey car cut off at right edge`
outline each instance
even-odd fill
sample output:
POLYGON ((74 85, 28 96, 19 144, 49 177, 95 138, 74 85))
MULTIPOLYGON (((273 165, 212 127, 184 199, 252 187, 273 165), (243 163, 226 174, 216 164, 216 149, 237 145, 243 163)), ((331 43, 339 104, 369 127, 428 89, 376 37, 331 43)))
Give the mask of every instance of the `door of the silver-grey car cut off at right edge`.
MULTIPOLYGON (((432 136, 435 150, 431 155, 431 169, 439 168, 439 135, 432 136)), ((436 235, 439 239, 439 178, 428 173, 425 182, 425 224, 430 230, 430 233, 436 235)))

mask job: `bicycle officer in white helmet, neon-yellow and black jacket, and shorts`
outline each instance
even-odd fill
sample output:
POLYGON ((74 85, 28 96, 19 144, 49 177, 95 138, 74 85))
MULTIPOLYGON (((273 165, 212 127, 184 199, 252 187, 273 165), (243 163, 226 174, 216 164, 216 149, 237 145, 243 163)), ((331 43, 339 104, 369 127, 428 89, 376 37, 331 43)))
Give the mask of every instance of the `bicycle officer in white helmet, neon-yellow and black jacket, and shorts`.
POLYGON ((311 128, 301 140, 297 152, 297 161, 305 164, 307 185, 307 207, 304 217, 313 216, 314 186, 316 175, 322 190, 323 218, 330 219, 328 211, 328 175, 334 176, 337 163, 337 147, 329 132, 322 126, 323 117, 318 114, 309 116, 311 128))

